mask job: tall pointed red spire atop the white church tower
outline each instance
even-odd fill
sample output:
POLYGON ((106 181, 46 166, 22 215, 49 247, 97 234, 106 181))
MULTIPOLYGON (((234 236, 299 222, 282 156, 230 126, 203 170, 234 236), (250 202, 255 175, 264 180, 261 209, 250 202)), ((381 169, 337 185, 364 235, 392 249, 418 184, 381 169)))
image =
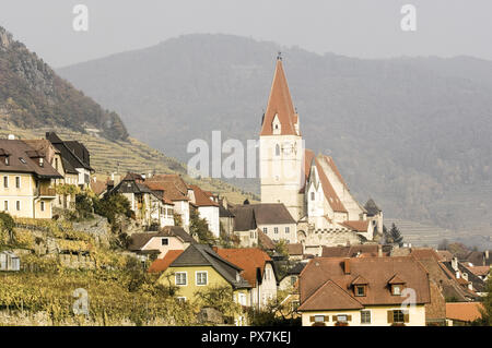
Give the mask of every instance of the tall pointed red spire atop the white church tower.
POLYGON ((282 56, 279 52, 260 135, 298 135, 298 125, 295 125, 297 122, 297 113, 283 71, 282 56))

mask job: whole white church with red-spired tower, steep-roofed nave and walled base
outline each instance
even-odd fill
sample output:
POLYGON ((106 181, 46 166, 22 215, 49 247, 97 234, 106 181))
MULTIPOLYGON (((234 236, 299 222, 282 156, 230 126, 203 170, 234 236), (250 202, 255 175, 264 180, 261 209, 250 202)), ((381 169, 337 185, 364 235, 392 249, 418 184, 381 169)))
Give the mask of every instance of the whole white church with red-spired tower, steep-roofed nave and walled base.
POLYGON ((382 209, 355 200, 330 156, 305 148, 300 123, 279 55, 259 134, 261 203, 285 205, 305 248, 377 241, 382 209))

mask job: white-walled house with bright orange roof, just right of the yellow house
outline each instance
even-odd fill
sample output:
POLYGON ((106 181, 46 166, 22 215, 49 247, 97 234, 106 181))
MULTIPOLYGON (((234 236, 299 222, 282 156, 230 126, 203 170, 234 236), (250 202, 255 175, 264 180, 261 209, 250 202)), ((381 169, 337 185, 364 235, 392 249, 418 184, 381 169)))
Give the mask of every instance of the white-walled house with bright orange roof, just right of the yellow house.
POLYGON ((270 256, 258 248, 215 249, 219 256, 243 268, 241 275, 251 285, 249 303, 262 310, 277 298, 277 274, 270 256))

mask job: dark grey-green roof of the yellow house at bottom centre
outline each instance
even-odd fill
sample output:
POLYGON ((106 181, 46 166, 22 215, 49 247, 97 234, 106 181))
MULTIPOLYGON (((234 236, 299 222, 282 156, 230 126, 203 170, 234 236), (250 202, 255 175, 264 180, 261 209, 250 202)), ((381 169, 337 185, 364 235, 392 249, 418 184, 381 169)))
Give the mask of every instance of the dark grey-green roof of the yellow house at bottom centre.
POLYGON ((211 266, 234 288, 250 288, 251 285, 241 275, 243 269, 219 256, 210 247, 203 244, 189 245, 172 264, 172 267, 211 266))

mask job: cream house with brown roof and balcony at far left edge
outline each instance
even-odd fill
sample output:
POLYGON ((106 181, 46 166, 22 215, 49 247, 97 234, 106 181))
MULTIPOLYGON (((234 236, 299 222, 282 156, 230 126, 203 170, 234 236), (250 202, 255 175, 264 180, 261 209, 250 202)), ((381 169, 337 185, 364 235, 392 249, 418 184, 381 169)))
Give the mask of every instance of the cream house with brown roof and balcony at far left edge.
POLYGON ((15 217, 51 218, 55 181, 63 177, 26 142, 0 140, 0 209, 15 217))

